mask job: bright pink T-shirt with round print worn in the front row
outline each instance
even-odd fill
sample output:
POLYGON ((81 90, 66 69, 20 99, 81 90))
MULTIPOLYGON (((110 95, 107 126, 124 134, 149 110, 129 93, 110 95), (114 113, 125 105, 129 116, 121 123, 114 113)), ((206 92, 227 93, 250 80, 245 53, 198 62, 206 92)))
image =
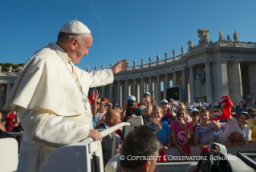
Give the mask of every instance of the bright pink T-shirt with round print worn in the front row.
MULTIPOLYGON (((191 130, 191 123, 185 122, 188 129, 191 130)), ((180 126, 177 121, 173 121, 170 127, 171 130, 175 130, 176 140, 180 146, 184 146, 188 144, 188 139, 185 137, 185 130, 180 126)))

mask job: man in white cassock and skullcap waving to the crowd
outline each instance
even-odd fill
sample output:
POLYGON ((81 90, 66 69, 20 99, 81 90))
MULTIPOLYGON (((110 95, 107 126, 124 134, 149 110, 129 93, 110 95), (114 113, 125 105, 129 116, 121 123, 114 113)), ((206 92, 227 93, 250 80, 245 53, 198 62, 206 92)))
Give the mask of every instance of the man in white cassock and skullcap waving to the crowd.
POLYGON ((80 70, 73 63, 88 54, 91 44, 87 26, 67 22, 57 42, 36 51, 23 66, 4 106, 19 112, 24 129, 17 171, 39 171, 52 150, 102 138, 92 127, 88 90, 112 83, 113 74, 127 70, 128 62, 90 73, 80 70))

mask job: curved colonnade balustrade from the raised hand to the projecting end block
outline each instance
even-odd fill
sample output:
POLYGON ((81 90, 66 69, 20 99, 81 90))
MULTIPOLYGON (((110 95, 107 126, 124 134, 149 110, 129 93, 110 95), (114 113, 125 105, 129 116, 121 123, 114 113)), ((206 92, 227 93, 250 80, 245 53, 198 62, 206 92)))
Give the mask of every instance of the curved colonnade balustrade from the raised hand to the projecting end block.
MULTIPOLYGON (((185 54, 183 54, 183 55, 185 55, 185 54)), ((175 61, 180 60, 181 56, 182 55, 179 55, 177 57, 164 59, 164 60, 161 60, 159 62, 152 62, 152 63, 147 63, 147 64, 139 65, 139 66, 131 66, 131 67, 128 67, 128 70, 140 70, 140 69, 144 69, 144 68, 148 68, 148 67, 152 67, 152 66, 164 65, 164 64, 169 63, 169 62, 175 62, 175 61)))

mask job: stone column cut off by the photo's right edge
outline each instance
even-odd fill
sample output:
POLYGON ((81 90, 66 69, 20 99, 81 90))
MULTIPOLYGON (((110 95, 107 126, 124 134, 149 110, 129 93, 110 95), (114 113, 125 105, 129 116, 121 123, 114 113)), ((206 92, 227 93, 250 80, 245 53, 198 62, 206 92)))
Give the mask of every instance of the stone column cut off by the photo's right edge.
POLYGON ((256 98, 255 73, 256 73, 256 65, 255 63, 250 63, 250 65, 248 65, 249 89, 250 89, 250 97, 254 99, 256 98))

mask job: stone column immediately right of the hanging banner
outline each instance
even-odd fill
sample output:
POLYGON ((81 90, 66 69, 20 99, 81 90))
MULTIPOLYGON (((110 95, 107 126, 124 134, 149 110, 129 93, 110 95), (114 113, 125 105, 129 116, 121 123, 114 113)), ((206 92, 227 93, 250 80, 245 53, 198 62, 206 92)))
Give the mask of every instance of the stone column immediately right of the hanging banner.
POLYGON ((213 102, 212 75, 211 75, 211 66, 209 62, 205 63, 205 80, 206 80, 205 81, 206 82, 206 100, 207 102, 213 102))

